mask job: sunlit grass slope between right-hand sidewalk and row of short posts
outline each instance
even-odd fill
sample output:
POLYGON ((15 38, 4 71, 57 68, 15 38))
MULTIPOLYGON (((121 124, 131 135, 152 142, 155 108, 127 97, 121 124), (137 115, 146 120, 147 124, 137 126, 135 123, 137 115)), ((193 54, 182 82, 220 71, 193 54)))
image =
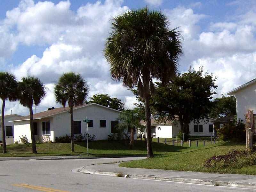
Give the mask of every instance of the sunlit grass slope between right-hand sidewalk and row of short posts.
MULTIPOLYGON (((163 141, 163 140, 160 140, 163 141)), ((172 140, 169 140, 172 142, 172 140)), ((188 142, 185 142, 183 148, 176 152, 169 152, 162 156, 155 155, 155 158, 135 160, 120 164, 123 167, 148 168, 148 169, 164 169, 178 171, 197 171, 197 172, 219 172, 219 173, 236 173, 236 174, 252 174, 256 175, 256 165, 245 166, 239 169, 226 168, 215 169, 204 167, 205 160, 214 155, 223 155, 232 149, 240 150, 245 148, 245 143, 237 144, 232 142, 218 141, 215 145, 211 145, 211 141, 206 141, 206 147, 203 142, 199 141, 199 147, 195 147, 196 141, 192 141, 191 148, 188 148, 188 142)), ((168 143, 168 140, 167 140, 168 143)), ((179 145, 180 143, 178 143, 179 145)))

